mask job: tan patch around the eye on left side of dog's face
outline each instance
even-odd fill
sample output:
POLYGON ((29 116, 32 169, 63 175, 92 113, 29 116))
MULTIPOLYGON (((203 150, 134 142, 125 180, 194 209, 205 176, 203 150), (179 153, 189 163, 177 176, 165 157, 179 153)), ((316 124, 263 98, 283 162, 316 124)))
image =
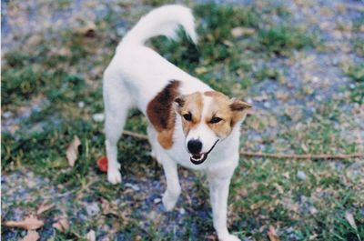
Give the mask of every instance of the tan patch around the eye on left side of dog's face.
POLYGON ((189 130, 197 126, 201 122, 201 114, 203 108, 202 95, 199 92, 195 92, 191 95, 181 95, 176 99, 178 104, 177 112, 182 117, 182 128, 185 135, 188 134, 189 130), (180 105, 182 103, 182 105, 180 105), (192 120, 187 121, 183 115, 191 114, 192 120))

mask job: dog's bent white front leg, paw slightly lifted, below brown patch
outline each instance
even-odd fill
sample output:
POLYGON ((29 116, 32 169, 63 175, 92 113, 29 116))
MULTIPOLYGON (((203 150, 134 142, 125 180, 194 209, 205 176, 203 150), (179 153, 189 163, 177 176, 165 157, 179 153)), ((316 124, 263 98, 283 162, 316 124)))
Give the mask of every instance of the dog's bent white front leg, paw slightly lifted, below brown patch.
POLYGON ((170 211, 176 206, 178 196, 181 193, 181 186, 179 186, 177 164, 169 158, 163 159, 162 164, 167 180, 167 190, 162 201, 167 211, 170 211))

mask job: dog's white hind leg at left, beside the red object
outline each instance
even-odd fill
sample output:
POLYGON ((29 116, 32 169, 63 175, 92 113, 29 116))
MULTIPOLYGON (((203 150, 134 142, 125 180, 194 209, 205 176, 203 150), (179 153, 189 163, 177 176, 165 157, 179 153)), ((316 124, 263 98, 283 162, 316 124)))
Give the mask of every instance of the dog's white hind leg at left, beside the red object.
POLYGON ((121 182, 120 164, 117 162, 117 141, 126 123, 132 99, 119 79, 104 75, 105 133, 107 156, 107 180, 112 184, 121 182))

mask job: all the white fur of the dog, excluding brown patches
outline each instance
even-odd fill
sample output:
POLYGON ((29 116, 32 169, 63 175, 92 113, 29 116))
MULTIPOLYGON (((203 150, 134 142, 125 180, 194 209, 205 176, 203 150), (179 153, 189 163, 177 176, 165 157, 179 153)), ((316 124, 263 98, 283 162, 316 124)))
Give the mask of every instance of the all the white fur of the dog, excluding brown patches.
MULTIPOLYGON (((119 164, 116 159, 116 143, 121 136, 130 108, 137 107, 146 115, 147 104, 173 79, 181 82, 180 92, 183 95, 212 90, 208 85, 188 75, 144 45, 150 37, 156 35, 176 37, 178 25, 182 25, 187 35, 197 42, 194 18, 187 7, 167 5, 153 10, 144 16, 120 42, 116 48, 116 54, 106 68, 104 102, 106 155, 108 158, 107 180, 112 184, 121 182, 119 164)), ((204 97, 206 104, 204 108, 207 108, 209 102, 209 98, 204 97)), ((168 211, 172 210, 181 192, 177 165, 203 170, 208 176, 213 222, 217 236, 220 240, 238 240, 238 237, 229 235, 227 231, 227 195, 231 176, 238 166, 240 125, 234 127, 230 136, 220 140, 207 160, 200 165, 190 162, 190 155, 185 147, 187 139, 199 136, 203 141, 203 151, 205 152, 213 145, 213 141, 217 137, 203 124, 187 137, 184 136, 179 115, 177 115, 175 126, 174 145, 168 150, 157 142, 155 128, 150 125, 147 129, 153 156, 163 165, 167 177, 167 190, 163 196, 164 206, 168 211)))

